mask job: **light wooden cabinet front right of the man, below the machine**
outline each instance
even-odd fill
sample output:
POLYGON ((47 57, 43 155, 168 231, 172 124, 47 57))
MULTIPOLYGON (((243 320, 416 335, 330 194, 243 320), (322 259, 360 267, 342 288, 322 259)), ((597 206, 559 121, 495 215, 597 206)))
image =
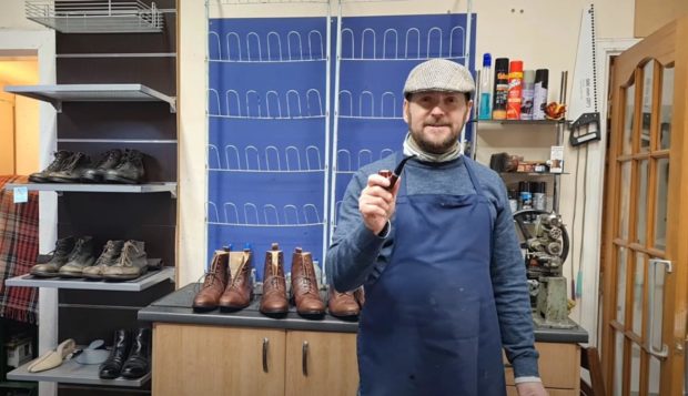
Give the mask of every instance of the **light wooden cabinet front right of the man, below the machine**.
MULTIPOLYGON (((580 393, 580 346, 578 344, 536 343, 540 354, 539 373, 549 395, 580 393)), ((516 395, 514 369, 505 362, 507 395, 516 395)))

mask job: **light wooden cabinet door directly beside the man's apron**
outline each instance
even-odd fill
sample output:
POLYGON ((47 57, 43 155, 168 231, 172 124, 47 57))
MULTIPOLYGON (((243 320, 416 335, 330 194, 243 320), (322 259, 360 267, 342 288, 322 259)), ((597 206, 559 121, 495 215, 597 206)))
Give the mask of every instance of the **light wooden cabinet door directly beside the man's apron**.
POLYGON ((356 334, 286 333, 286 396, 356 395, 356 334))

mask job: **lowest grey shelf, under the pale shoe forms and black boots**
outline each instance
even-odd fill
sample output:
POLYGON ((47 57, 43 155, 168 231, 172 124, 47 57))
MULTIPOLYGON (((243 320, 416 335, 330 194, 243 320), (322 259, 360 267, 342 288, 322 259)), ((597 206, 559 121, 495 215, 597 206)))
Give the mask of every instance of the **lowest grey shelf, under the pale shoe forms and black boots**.
POLYGON ((97 364, 82 365, 75 361, 65 361, 60 366, 40 373, 29 373, 27 367, 31 362, 21 365, 7 374, 8 379, 12 380, 43 380, 49 383, 62 384, 82 384, 82 385, 108 385, 108 386, 125 386, 141 387, 151 379, 151 373, 148 373, 138 379, 101 379, 98 376, 99 366, 97 364))

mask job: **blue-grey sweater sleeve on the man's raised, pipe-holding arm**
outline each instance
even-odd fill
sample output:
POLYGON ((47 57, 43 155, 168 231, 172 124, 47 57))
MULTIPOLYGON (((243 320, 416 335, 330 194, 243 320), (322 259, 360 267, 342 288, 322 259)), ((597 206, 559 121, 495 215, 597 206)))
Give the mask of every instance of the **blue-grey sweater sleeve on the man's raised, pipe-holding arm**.
POLYGON ((355 290, 366 281, 375 270, 385 237, 389 234, 389 230, 386 230, 385 235, 377 236, 363 223, 358 197, 366 183, 364 172, 356 173, 348 183, 332 244, 327 250, 327 282, 341 292, 355 290))

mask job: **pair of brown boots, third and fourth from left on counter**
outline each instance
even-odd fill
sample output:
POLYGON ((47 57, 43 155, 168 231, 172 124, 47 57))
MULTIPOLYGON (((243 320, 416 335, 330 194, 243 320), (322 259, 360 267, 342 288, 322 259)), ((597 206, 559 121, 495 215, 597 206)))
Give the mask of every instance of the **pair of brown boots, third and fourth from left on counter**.
MULTIPOLYGON (((325 303, 320 297, 317 278, 310 252, 301 247, 292 256, 292 296, 296 312, 301 315, 323 315, 325 303)), ((286 280, 284 278, 284 254, 276 243, 265 254, 263 272, 263 297, 261 312, 265 315, 284 315, 289 312, 286 280)))

